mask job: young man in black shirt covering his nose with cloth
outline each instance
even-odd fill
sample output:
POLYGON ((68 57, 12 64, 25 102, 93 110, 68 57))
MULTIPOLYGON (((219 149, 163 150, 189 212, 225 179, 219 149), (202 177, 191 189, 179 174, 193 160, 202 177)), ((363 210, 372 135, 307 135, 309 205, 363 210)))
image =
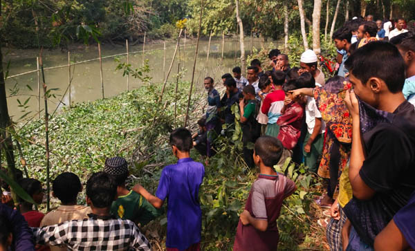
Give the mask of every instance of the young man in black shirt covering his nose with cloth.
POLYGON ((398 49, 376 41, 345 62, 353 91, 345 102, 353 120, 349 180, 353 198, 344 207, 353 225, 349 248, 374 238, 415 191, 415 111, 403 96, 405 62, 398 49))

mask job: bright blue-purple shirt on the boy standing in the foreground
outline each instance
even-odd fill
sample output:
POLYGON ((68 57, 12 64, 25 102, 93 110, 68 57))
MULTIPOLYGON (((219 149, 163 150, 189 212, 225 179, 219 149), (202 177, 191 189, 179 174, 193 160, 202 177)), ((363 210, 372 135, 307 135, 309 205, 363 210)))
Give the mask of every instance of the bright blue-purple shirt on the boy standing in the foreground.
POLYGON ((205 167, 192 158, 181 158, 161 172, 156 196, 167 201, 167 248, 185 250, 201 241, 202 211, 199 188, 205 167))

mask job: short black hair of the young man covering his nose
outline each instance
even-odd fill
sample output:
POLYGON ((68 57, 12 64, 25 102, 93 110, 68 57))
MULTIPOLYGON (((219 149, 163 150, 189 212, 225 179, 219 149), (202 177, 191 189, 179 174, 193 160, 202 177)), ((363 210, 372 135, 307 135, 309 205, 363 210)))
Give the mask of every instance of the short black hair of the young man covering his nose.
POLYGON ((369 78, 383 80, 391 93, 398 93, 405 82, 405 62, 398 48, 385 41, 374 41, 358 48, 344 63, 362 84, 369 78))

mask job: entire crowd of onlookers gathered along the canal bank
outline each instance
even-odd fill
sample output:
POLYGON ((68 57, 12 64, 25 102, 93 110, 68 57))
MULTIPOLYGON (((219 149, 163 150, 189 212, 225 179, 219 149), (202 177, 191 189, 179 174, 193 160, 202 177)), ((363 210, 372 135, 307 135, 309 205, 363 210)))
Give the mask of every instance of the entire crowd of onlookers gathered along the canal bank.
POLYGON ((33 205, 42 202, 42 184, 17 172, 31 200, 3 193, 0 250, 150 250, 139 227, 163 214, 166 200, 167 250, 200 250, 205 167, 190 158, 190 149, 208 164, 216 139, 232 138, 236 125, 243 160, 259 175, 240 214, 234 250, 277 250, 277 218, 297 188, 274 167, 290 157, 325 181, 315 203, 332 251, 415 249, 415 32, 404 30, 402 19, 394 30, 389 23, 369 15, 336 30, 338 68, 328 79, 313 50, 289 62, 278 49, 268 54, 270 71, 253 59, 246 77, 239 66, 223 74, 222 97, 205 77, 208 104, 199 131, 170 134, 178 161, 163 168, 154 195, 139 184, 128 189, 127 161, 107 158, 86 183, 88 206, 77 205, 80 178, 64 172, 52 183, 61 205, 45 215, 33 205))

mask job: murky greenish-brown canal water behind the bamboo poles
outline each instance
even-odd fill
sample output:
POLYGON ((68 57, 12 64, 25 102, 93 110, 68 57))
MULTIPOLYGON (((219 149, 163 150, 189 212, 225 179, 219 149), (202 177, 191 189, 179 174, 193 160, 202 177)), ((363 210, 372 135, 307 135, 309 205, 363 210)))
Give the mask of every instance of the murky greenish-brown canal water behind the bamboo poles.
MULTIPOLYGON (((181 64, 182 80, 190 81, 192 78, 192 68, 194 62, 195 39, 187 39, 186 46, 184 40, 181 39, 180 57, 179 52, 176 55, 172 67, 172 73, 169 75, 169 82, 176 81, 178 63, 181 64)), ((277 44, 274 42, 274 44, 277 44)), ((166 42, 166 51, 163 42, 154 44, 146 44, 145 54, 142 54, 142 44, 137 46, 129 46, 129 64, 131 68, 140 68, 143 59, 148 60, 150 67, 149 76, 152 77, 151 82, 163 82, 165 75, 169 69, 172 57, 174 55, 175 41, 166 42), (163 61, 165 57, 165 66, 163 71, 163 61)), ((251 43, 250 39, 246 39, 246 55, 251 51, 252 47, 261 48, 264 46, 262 39, 254 39, 251 43)), ((199 54, 196 64, 194 82, 196 88, 201 88, 203 78, 207 75, 214 77, 215 82, 220 81, 223 73, 231 73, 234 66, 240 65, 239 61, 239 42, 237 39, 225 39, 223 48, 223 62, 221 62, 222 40, 212 39, 210 48, 208 48, 208 39, 201 39, 199 43, 199 54), (207 60, 208 49, 210 50, 209 59, 207 60)), ((102 57, 109 55, 117 55, 126 52, 125 46, 111 46, 109 44, 101 47, 102 57)), ((4 67, 10 62, 8 68, 8 79, 6 80, 6 91, 8 93, 8 108, 10 115, 14 121, 18 121, 21 115, 31 111, 30 115, 35 115, 38 109, 38 84, 37 84, 37 49, 16 50, 3 48, 4 67), (35 71, 17 77, 10 77, 28 71, 35 71), (18 90, 18 91, 17 91, 18 90), (16 92, 17 91, 17 92, 16 92), (30 97, 24 109, 19 106, 30 97), (19 100, 19 101, 18 101, 19 100)), ((69 103, 68 92, 68 53, 66 50, 60 49, 44 50, 44 68, 53 66, 66 66, 62 68, 53 68, 45 70, 45 82, 48 89, 56 89, 51 91, 56 97, 50 97, 48 101, 49 111, 54 111, 69 103), (60 102, 62 100, 62 102, 60 102)), ((98 58, 98 46, 80 45, 71 48, 71 63, 82 62, 89 59, 98 58)), ((127 76, 122 76, 122 71, 116 71, 118 64, 126 62, 126 55, 116 57, 107 57, 102 59, 102 76, 104 82, 104 95, 111 97, 118 95, 127 90, 127 76)), ((93 60, 82 64, 71 66, 71 102, 86 102, 102 98, 101 79, 100 79, 100 61, 93 60)), ((42 75, 41 80, 42 80, 42 75)), ((42 84, 42 81, 41 81, 42 84)), ((140 80, 129 77, 129 89, 139 88, 140 80)), ((41 102, 40 109, 44 109, 43 90, 41 86, 41 102)))

